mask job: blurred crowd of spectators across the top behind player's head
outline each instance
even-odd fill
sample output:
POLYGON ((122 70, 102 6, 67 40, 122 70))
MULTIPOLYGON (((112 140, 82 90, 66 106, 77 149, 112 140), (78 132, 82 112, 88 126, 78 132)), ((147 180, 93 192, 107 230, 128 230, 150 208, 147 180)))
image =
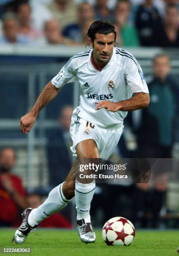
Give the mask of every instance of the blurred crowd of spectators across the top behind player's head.
POLYGON ((114 23, 117 46, 179 47, 178 0, 3 0, 0 43, 84 45, 97 19, 114 23))

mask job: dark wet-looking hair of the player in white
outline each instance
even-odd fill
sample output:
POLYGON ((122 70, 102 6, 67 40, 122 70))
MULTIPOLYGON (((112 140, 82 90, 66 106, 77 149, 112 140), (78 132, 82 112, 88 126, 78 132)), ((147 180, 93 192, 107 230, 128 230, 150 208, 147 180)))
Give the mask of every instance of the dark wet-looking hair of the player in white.
POLYGON ((114 25, 109 20, 96 20, 91 24, 87 37, 91 38, 92 43, 94 43, 96 33, 104 35, 114 33, 114 43, 116 42, 116 31, 114 25))

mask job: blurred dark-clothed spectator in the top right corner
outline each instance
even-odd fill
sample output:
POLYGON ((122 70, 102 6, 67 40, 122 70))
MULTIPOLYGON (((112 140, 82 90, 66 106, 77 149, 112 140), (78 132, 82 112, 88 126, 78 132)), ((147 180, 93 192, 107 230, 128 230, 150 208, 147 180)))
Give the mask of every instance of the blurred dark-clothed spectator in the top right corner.
POLYGON ((162 26, 156 28, 155 40, 155 46, 179 47, 179 10, 176 5, 167 5, 162 26))

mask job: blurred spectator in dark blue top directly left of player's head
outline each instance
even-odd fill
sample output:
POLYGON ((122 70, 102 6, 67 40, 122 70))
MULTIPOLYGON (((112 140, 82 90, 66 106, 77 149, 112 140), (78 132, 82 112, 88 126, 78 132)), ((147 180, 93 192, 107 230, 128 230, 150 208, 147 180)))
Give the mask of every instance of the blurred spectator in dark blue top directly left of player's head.
POLYGON ((86 42, 87 26, 94 20, 94 8, 87 2, 78 7, 78 23, 73 23, 64 28, 63 35, 78 42, 86 42), (85 35, 85 39, 84 39, 85 35))

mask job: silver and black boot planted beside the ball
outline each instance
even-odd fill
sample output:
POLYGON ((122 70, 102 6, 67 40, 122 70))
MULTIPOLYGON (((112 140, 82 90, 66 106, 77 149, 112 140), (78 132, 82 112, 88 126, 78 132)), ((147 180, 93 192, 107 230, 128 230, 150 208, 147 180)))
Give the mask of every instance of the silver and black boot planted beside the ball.
POLYGON ((91 223, 85 223, 84 219, 77 220, 77 230, 83 243, 94 243, 96 241, 96 234, 91 223))

